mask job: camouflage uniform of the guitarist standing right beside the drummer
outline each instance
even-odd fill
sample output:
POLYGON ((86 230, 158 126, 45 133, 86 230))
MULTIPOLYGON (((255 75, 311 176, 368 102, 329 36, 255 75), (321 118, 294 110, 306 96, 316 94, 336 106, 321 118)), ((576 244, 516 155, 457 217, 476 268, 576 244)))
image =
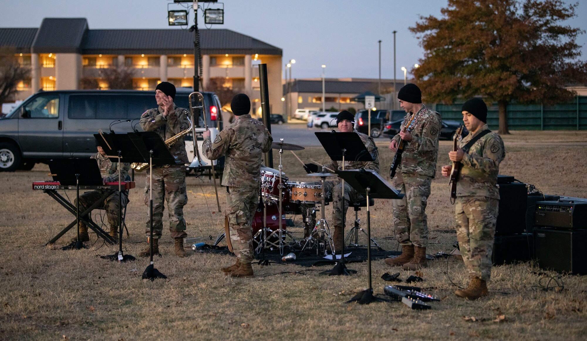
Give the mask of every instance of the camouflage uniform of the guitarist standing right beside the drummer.
MULTIPOLYGON (((400 130, 410 121, 411 115, 406 115, 400 130)), ((440 114, 424 105, 416 115, 413 126, 409 129, 412 140, 404 143, 402 163, 392 181, 393 187, 405 194, 402 199, 392 200, 393 224, 400 245, 426 248, 426 204, 430 195, 430 184, 436 174, 441 120, 440 114)), ((399 134, 393 140, 399 143, 399 134)))

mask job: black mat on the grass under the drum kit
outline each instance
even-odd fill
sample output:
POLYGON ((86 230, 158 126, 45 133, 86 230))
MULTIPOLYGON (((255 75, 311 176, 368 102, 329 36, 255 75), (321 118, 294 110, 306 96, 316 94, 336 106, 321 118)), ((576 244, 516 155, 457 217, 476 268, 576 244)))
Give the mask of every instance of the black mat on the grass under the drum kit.
MULTIPOLYGON (((204 245, 199 250, 195 252, 201 253, 210 253, 210 254, 221 254, 221 255, 230 255, 232 252, 228 251, 227 247, 214 247, 212 245, 204 245)), ((300 252, 299 250, 292 250, 289 248, 284 249, 284 256, 289 254, 289 252, 294 252, 296 255, 295 261, 284 262, 281 260, 282 255, 279 253, 279 250, 265 250, 265 259, 268 259, 269 262, 277 263, 277 264, 295 264, 295 265, 302 265, 302 266, 321 266, 321 265, 333 265, 333 261, 330 259, 325 259, 322 256, 316 255, 316 250, 304 250, 300 252)), ((353 263, 353 262, 366 262, 367 261, 367 248, 357 248, 357 247, 345 247, 345 254, 351 254, 348 257, 345 257, 345 262, 353 263)), ((376 261, 377 259, 384 259, 387 256, 397 256, 402 254, 401 251, 377 251, 377 249, 371 249, 371 259, 372 261, 376 261)), ((255 254, 255 261, 257 262, 262 259, 262 255, 255 254)))

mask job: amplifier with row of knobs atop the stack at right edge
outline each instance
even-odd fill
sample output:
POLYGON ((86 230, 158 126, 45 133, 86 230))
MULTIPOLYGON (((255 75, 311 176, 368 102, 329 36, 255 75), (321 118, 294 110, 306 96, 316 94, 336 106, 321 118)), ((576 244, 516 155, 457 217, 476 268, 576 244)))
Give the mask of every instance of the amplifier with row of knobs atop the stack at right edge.
POLYGON ((534 208, 536 227, 587 229, 587 201, 561 198, 558 201, 538 201, 534 208))

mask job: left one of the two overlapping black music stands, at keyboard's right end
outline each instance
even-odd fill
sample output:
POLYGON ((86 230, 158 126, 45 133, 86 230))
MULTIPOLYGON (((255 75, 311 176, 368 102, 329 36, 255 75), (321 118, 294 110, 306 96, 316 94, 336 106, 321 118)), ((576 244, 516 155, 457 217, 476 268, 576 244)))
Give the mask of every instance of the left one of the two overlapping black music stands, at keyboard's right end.
POLYGON ((94 137, 99 144, 100 147, 106 153, 106 156, 112 162, 118 163, 118 191, 119 195, 119 202, 118 202, 118 222, 119 222, 119 238, 118 238, 118 245, 119 249, 118 252, 114 252, 112 255, 107 256, 100 256, 103 259, 109 259, 110 261, 119 261, 121 263, 127 261, 135 261, 136 258, 131 255, 125 255, 122 251, 122 183, 123 179, 120 177, 120 166, 121 162, 126 163, 133 163, 133 162, 143 162, 144 158, 141 155, 140 151, 134 146, 132 140, 127 134, 94 134, 94 137), (117 156, 114 156, 116 154, 117 156), (124 159, 124 160, 122 160, 124 159))

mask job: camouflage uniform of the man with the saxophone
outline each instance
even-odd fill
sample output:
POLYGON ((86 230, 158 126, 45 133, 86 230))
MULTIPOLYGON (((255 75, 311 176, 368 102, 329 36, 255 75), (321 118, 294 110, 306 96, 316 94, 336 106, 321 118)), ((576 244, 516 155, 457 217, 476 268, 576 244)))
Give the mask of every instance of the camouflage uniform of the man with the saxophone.
MULTIPOLYGON (((163 116, 163 107, 149 109, 141 115, 141 128, 144 131, 156 131, 163 140, 176 136, 181 131, 188 129, 190 123, 185 119, 187 110, 173 104, 173 112, 167 117, 163 116)), ((185 189, 185 163, 188 162, 185 152, 185 141, 178 139, 169 148, 171 155, 180 161, 180 164, 169 167, 153 166, 153 238, 161 238, 163 231, 163 210, 164 201, 167 200, 169 211, 169 232, 171 238, 185 238, 185 220, 183 207, 187 204, 187 191, 185 189)), ((145 183, 144 202, 147 205, 147 212, 150 212, 149 201, 149 169, 145 183)), ((145 224, 145 235, 149 237, 151 222, 147 213, 145 224)))

